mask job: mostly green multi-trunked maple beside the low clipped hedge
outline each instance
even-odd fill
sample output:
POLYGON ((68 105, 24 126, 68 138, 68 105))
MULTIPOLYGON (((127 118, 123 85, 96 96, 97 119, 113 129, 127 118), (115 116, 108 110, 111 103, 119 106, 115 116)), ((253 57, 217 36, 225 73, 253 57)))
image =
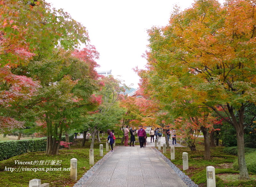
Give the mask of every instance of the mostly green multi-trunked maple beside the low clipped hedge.
POLYGON ((98 105, 93 92, 101 87, 94 69, 99 55, 94 46, 73 52, 58 48, 53 52, 51 59, 41 56, 26 66, 13 68, 13 73, 40 82, 27 108, 35 111, 47 135, 47 154, 58 154, 62 133, 68 135, 69 129, 78 126, 80 121, 76 119, 98 105))

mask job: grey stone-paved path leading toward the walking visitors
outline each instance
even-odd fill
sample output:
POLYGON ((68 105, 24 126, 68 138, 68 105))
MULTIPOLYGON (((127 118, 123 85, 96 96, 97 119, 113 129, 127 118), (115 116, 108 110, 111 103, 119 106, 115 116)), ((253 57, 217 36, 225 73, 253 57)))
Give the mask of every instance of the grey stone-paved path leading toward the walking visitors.
POLYGON ((116 146, 83 187, 186 187, 151 148, 154 145, 149 141, 145 148, 116 146))

